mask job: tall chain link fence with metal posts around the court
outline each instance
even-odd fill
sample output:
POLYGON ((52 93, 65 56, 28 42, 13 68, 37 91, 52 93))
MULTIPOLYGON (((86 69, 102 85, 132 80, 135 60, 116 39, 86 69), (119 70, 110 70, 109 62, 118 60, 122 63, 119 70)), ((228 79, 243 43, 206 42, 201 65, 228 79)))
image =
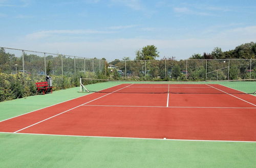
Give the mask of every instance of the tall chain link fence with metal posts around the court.
POLYGON ((0 48, 0 72, 135 80, 237 80, 256 78, 256 59, 105 61, 0 48))

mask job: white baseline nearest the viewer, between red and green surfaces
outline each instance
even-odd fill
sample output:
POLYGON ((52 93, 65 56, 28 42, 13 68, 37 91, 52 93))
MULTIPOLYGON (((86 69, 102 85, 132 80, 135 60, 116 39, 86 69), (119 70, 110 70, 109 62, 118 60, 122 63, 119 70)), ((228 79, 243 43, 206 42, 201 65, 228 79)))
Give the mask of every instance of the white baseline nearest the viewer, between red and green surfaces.
POLYGON ((44 133, 20 133, 20 132, 0 132, 10 134, 28 134, 28 135, 49 135, 49 136, 73 136, 73 137, 98 137, 98 138, 118 138, 118 139, 146 139, 146 140, 163 140, 163 141, 197 141, 197 142, 231 142, 231 143, 256 143, 256 141, 231 141, 231 140, 204 140, 204 139, 164 139, 164 138, 143 138, 143 137, 120 137, 120 136, 87 136, 87 135, 58 135, 44 133))

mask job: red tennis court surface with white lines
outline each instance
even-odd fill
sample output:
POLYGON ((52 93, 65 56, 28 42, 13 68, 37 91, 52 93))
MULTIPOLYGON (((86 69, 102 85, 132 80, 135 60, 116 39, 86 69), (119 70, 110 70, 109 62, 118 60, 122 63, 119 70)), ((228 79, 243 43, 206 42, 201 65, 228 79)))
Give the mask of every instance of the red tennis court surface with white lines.
POLYGON ((256 97, 221 85, 122 84, 0 122, 0 132, 256 142, 256 97))

